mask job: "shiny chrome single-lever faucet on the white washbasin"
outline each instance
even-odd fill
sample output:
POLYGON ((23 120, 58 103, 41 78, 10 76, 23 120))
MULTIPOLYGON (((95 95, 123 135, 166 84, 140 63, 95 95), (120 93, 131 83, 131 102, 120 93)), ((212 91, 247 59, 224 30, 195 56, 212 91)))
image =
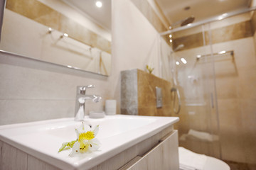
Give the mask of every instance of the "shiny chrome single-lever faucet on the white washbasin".
POLYGON ((85 118, 85 100, 92 100, 97 103, 101 97, 97 95, 86 95, 86 89, 94 88, 95 85, 78 86, 75 98, 75 121, 82 121, 85 118))

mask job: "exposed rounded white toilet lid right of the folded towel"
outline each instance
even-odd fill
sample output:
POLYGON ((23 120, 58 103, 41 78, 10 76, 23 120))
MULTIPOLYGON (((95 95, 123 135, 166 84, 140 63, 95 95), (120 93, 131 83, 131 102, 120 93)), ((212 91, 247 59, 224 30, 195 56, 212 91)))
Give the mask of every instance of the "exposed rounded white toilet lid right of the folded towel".
POLYGON ((214 157, 208 157, 206 156, 206 164, 203 166, 203 170, 230 170, 230 166, 226 164, 225 162, 221 161, 220 159, 216 159, 214 157))

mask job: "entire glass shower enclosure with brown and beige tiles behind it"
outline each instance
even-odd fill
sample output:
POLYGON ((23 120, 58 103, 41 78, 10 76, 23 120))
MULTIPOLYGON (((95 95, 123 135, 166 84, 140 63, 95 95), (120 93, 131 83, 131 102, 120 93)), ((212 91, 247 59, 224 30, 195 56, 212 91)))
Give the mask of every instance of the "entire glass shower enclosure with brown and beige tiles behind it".
POLYGON ((180 118, 181 147, 255 164, 255 18, 241 13, 171 33, 171 73, 181 96, 181 111, 172 115, 180 118))

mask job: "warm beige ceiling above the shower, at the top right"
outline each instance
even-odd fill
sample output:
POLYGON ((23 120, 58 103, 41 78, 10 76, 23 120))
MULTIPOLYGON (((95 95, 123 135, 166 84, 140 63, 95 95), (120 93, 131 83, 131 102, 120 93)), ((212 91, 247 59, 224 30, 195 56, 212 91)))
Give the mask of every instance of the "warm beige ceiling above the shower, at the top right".
POLYGON ((203 21, 223 13, 250 7, 251 0, 155 0, 169 21, 178 23, 190 16, 203 21), (189 8, 185 10, 185 8, 189 8))

